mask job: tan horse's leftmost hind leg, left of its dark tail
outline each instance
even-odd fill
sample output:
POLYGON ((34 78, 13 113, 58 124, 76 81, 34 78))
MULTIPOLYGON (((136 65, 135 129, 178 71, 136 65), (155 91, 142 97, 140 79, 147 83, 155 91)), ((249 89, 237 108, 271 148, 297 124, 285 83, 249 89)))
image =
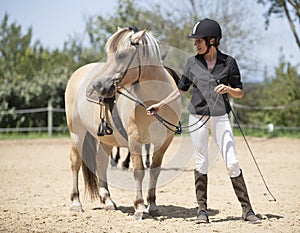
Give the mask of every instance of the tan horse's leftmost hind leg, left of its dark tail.
POLYGON ((82 205, 79 199, 79 189, 78 189, 78 172, 82 165, 81 157, 78 153, 76 146, 72 143, 72 148, 70 152, 70 161, 71 161, 71 169, 73 175, 73 190, 71 193, 71 207, 72 211, 82 212, 82 205))

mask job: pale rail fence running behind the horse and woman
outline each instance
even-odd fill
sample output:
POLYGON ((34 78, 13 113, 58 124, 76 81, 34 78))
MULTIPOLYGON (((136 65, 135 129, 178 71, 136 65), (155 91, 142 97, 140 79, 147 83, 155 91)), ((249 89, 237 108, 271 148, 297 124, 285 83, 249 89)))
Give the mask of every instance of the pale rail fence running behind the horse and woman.
MULTIPOLYGON (((295 106, 265 106, 265 107, 253 107, 233 103, 234 108, 242 108, 248 110, 271 110, 271 109, 282 109, 284 107, 295 107, 295 106)), ((299 106, 297 106, 299 107, 299 106)), ((52 103, 49 101, 48 106, 44 108, 34 108, 34 109, 20 109, 13 111, 0 111, 0 115, 15 115, 15 114, 28 114, 28 113, 40 113, 47 112, 47 126, 45 127, 19 127, 19 128, 0 128, 0 133, 10 133, 10 132, 48 132, 48 135, 51 136, 54 131, 67 131, 68 127, 55 127, 53 126, 53 113, 60 112, 64 113, 65 109, 63 108, 53 108, 52 103)), ((184 111, 187 114, 186 111, 184 111)), ((238 125, 232 122, 232 127, 237 128, 238 125)), ((276 130, 288 130, 288 131, 300 131, 298 126, 275 126, 272 123, 267 125, 246 125, 241 124, 242 128, 245 129, 258 129, 266 130, 269 133, 272 133, 276 130)))

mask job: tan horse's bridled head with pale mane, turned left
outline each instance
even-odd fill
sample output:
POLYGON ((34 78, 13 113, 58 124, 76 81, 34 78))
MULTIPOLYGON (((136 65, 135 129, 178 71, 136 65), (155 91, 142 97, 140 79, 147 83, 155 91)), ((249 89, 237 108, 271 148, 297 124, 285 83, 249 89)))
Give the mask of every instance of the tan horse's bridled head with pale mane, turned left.
POLYGON ((147 29, 118 28, 106 44, 107 61, 102 73, 94 81, 94 89, 106 98, 116 89, 139 81, 142 67, 161 65, 158 41, 147 29))

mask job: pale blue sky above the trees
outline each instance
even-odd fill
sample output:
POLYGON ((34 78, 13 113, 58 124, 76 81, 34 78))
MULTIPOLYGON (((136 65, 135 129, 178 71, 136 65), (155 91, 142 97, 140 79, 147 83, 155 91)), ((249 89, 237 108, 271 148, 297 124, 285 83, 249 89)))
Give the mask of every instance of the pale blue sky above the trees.
MULTIPOLYGON (((266 9, 253 4, 256 0, 244 1, 248 2, 248 5, 252 4, 249 5, 249 11, 253 11, 256 27, 262 36, 249 51, 250 56, 255 56, 261 61, 261 74, 258 75, 262 75, 265 68, 272 74, 274 67, 278 65, 280 53, 293 65, 299 64, 300 50, 287 19, 271 18, 271 26, 266 31, 263 18, 266 9)), ((140 2, 146 5, 149 0, 140 2)), ((54 49, 62 48, 63 43, 71 36, 81 35, 89 16, 108 16, 116 5, 117 0, 0 0, 0 19, 2 21, 4 14, 8 13, 10 23, 21 25, 24 32, 32 27, 33 41, 39 40, 44 47, 54 49)))

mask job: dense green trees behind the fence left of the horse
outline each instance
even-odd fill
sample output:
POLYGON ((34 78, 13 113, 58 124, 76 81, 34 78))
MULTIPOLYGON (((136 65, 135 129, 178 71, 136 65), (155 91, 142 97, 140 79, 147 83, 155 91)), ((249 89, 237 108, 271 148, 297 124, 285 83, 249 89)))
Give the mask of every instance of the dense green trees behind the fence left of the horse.
MULTIPOLYGON (((37 41, 32 30, 22 34, 21 26, 9 23, 7 15, 0 32, 1 111, 46 107, 64 107, 64 90, 76 63, 67 51, 48 51, 37 41)), ((56 122, 64 124, 64 116, 56 122)), ((45 126, 46 113, 0 115, 0 127, 45 126)))

